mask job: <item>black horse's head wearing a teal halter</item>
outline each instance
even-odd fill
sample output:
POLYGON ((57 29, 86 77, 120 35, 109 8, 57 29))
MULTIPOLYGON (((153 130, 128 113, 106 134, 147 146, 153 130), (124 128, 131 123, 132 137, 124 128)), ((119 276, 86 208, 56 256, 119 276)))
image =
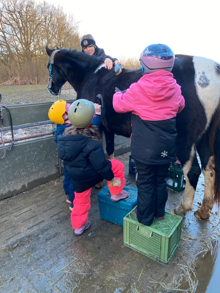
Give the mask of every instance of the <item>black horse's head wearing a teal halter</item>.
POLYGON ((48 56, 50 57, 50 61, 47 65, 47 68, 50 72, 47 88, 52 95, 60 95, 61 87, 66 82, 66 79, 60 72, 59 66, 57 66, 56 62, 54 63, 55 54, 59 53, 60 49, 50 49, 48 46, 46 46, 45 49, 48 56))

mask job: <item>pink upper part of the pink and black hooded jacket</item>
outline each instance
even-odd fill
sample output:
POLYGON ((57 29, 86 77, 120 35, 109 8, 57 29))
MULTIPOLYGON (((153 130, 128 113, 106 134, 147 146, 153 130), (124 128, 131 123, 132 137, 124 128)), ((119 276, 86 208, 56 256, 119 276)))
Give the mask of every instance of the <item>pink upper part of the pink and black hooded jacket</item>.
POLYGON ((132 114, 143 120, 173 118, 184 106, 180 85, 173 78, 173 74, 165 70, 144 74, 124 94, 116 92, 113 96, 116 112, 132 111, 132 114))

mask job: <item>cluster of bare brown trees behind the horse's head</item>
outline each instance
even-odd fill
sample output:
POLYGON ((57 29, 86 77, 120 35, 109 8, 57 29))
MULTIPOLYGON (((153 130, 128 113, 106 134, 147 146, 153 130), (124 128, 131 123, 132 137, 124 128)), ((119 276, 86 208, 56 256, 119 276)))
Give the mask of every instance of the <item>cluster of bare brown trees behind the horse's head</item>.
POLYGON ((47 2, 1 0, 0 76, 46 72, 45 45, 79 49, 78 24, 73 16, 47 2))

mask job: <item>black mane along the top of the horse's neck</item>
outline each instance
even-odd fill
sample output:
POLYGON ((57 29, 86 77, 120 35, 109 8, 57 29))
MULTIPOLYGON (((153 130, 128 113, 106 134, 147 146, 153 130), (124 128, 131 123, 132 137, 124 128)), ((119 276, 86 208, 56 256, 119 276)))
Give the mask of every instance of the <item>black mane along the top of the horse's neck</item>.
POLYGON ((86 54, 82 51, 78 51, 76 49, 61 49, 59 54, 59 61, 67 61, 69 60, 77 60, 79 62, 86 62, 89 63, 91 66, 98 66, 101 64, 101 61, 97 60, 97 58, 94 55, 86 54))

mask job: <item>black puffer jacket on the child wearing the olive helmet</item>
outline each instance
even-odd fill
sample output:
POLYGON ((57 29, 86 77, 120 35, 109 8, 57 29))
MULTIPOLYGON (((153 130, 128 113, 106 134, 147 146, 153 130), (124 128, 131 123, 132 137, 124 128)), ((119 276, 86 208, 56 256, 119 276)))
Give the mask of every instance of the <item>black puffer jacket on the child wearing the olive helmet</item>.
POLYGON ((83 134, 58 136, 57 152, 78 193, 103 179, 110 181, 114 178, 112 163, 105 159, 104 150, 97 140, 83 134))

